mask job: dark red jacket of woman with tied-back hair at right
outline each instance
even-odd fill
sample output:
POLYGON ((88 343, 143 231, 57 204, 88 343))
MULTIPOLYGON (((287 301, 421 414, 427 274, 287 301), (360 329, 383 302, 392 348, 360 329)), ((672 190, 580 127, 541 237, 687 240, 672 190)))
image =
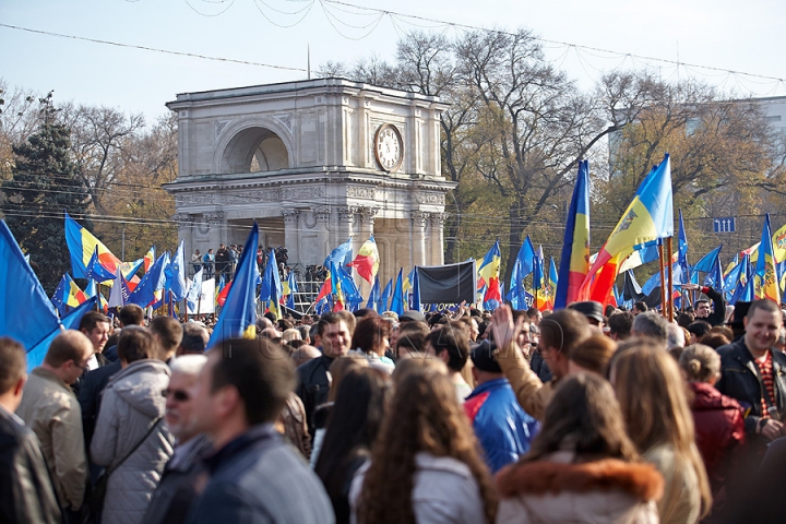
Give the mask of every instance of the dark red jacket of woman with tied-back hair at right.
POLYGON ((690 382, 693 391, 693 421, 699 451, 710 477, 713 496, 720 493, 729 473, 734 455, 745 443, 745 416, 734 398, 722 394, 704 382, 690 382))

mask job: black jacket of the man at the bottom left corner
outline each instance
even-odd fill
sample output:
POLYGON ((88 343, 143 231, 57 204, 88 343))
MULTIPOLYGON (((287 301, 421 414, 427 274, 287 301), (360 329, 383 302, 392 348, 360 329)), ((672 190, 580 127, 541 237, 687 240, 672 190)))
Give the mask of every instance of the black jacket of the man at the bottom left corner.
POLYGON ((0 522, 63 522, 38 439, 19 418, 2 407, 0 522))

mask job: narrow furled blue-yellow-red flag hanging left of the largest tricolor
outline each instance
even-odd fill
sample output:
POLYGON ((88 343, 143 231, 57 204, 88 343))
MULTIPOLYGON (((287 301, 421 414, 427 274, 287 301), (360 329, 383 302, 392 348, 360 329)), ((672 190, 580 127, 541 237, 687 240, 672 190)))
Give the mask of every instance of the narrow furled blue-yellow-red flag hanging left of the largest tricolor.
POLYGON ((573 198, 568 210, 568 223, 562 241, 562 258, 555 309, 567 307, 579 297, 587 272, 590 271, 590 163, 579 163, 579 175, 573 188, 573 198))

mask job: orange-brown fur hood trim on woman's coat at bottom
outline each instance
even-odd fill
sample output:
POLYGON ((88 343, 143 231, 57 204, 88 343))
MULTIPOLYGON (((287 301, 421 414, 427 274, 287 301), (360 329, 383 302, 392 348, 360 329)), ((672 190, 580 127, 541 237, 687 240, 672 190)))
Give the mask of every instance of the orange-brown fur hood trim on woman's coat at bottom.
POLYGON ((544 460, 503 468, 497 475, 497 488, 502 497, 619 490, 647 502, 660 499, 664 479, 652 464, 634 464, 617 458, 582 464, 544 460))

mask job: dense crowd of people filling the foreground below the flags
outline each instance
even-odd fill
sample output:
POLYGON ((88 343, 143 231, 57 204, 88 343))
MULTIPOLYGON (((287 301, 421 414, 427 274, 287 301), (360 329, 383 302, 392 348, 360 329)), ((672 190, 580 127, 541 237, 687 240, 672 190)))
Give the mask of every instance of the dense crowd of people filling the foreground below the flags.
POLYGON ((783 522, 784 312, 699 290, 0 337, 0 522, 783 522))

